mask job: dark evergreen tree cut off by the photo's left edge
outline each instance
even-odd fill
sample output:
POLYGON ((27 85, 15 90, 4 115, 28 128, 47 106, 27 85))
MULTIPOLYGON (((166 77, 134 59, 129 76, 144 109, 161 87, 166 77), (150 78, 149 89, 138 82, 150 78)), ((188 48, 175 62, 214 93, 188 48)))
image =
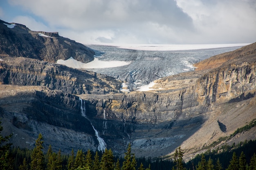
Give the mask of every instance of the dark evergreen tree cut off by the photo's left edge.
MULTIPOLYGON (((0 124, 2 122, 0 121, 0 124)), ((9 141, 12 134, 9 136, 3 137, 1 132, 3 127, 0 126, 0 169, 1 170, 11 170, 13 169, 13 159, 9 155, 9 148, 11 144, 5 144, 5 142, 9 141), (4 144, 3 144, 4 143, 4 144)))

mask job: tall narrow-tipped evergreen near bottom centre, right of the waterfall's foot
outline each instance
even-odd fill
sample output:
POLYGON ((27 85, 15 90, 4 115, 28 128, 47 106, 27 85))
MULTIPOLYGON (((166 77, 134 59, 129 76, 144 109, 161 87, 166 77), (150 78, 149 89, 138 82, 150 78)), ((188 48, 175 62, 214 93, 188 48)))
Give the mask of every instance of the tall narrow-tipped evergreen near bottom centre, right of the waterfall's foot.
POLYGON ((135 170, 137 162, 135 160, 135 155, 131 153, 131 150, 131 144, 129 143, 127 152, 125 152, 125 161, 123 162, 122 170, 135 170))

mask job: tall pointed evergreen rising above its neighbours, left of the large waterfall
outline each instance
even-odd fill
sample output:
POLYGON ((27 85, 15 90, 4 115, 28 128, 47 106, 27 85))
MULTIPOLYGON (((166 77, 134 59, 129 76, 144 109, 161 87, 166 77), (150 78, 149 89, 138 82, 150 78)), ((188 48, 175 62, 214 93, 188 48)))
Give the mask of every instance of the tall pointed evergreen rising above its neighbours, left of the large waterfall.
POLYGON ((36 146, 31 153, 31 170, 43 170, 44 168, 43 143, 43 135, 39 133, 36 146))

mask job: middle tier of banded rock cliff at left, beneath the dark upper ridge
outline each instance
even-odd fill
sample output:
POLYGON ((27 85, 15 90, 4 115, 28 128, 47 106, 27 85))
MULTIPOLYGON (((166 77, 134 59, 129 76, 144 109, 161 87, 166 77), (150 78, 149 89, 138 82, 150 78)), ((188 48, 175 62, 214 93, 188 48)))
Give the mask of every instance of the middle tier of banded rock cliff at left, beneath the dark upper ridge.
POLYGON ((2 57, 0 84, 45 86, 70 94, 117 93, 121 81, 90 71, 24 57, 2 57))

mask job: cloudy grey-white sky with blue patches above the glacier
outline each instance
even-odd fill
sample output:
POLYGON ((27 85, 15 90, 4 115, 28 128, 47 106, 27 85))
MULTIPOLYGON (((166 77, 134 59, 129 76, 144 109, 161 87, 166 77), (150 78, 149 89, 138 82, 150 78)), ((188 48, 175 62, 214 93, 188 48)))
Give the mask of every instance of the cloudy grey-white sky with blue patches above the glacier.
POLYGON ((256 0, 1 0, 0 19, 83 44, 256 42, 256 0))

